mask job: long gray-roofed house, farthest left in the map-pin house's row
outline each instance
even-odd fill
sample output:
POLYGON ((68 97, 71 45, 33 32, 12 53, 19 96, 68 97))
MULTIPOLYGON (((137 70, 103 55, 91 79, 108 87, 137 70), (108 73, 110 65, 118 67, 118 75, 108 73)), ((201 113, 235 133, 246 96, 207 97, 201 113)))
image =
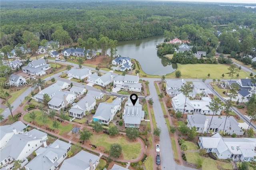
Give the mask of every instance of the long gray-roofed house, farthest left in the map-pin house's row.
POLYGON ((64 82, 64 81, 57 81, 56 83, 50 85, 49 87, 46 87, 45 89, 39 91, 36 95, 34 95, 32 98, 36 101, 43 102, 44 101, 44 94, 48 94, 49 97, 52 99, 52 97, 55 95, 57 91, 62 91, 62 89, 66 89, 70 86, 70 84, 64 82))

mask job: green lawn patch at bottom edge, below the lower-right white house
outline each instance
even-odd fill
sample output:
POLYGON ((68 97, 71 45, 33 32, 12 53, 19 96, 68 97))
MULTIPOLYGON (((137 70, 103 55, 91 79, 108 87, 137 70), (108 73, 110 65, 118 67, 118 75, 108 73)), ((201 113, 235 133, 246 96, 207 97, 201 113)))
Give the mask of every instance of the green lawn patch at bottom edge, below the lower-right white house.
POLYGON ((233 166, 231 163, 220 162, 218 160, 213 160, 212 158, 205 158, 200 156, 198 152, 186 152, 185 154, 186 154, 187 161, 193 164, 196 164, 196 160, 198 158, 202 158, 204 161, 202 170, 209 170, 209 167, 211 167, 211 170, 219 170, 220 168, 218 168, 218 166, 221 166, 226 170, 233 169, 233 166))

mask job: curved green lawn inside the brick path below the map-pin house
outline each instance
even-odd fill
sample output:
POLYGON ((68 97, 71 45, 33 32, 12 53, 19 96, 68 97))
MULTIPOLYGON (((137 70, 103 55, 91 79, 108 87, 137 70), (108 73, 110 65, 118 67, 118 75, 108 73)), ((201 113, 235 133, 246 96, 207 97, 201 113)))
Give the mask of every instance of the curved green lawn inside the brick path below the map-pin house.
POLYGON ((90 142, 96 146, 103 146, 105 150, 109 150, 111 144, 118 143, 122 146, 124 159, 137 158, 141 150, 140 142, 128 142, 126 138, 122 136, 110 138, 108 134, 93 135, 90 138, 90 142))

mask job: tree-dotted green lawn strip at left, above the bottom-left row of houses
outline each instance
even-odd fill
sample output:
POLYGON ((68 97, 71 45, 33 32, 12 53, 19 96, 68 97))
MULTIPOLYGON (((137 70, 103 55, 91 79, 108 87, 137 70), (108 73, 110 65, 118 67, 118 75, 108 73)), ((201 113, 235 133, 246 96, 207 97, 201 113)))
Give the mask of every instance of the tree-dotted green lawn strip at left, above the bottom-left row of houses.
MULTIPOLYGON (((41 120, 41 111, 34 111, 35 113, 36 113, 36 119, 35 119, 35 121, 37 122, 37 124, 38 125, 44 125, 44 123, 42 122, 42 120, 41 120)), ((23 117, 23 119, 24 119, 24 121, 26 121, 26 122, 32 122, 33 120, 29 117, 29 113, 27 113, 26 115, 24 115, 24 117, 23 117)), ((52 127, 52 119, 50 119, 50 118, 48 118, 47 117, 47 121, 46 121, 46 123, 45 123, 45 125, 49 125, 49 127, 50 128, 52 128, 52 129, 55 129, 54 127, 52 127)), ((72 127, 72 124, 68 124, 68 125, 65 125, 65 126, 62 126, 61 124, 60 124, 60 126, 59 126, 59 130, 60 130, 60 132, 58 133, 59 135, 62 135, 63 133, 68 133, 71 129, 72 129, 73 127, 72 127)))

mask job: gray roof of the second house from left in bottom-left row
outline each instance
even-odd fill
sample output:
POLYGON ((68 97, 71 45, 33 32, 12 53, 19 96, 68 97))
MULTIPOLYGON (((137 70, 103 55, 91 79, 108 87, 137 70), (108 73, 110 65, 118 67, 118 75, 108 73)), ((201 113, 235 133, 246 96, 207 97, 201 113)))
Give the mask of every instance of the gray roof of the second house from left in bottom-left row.
POLYGON ((13 158, 17 159, 29 141, 41 139, 46 135, 47 135, 46 133, 36 129, 32 129, 28 132, 24 132, 23 134, 13 135, 12 138, 9 140, 9 142, 1 151, 0 162, 2 162, 2 159, 7 158, 8 156, 12 156, 13 158))

